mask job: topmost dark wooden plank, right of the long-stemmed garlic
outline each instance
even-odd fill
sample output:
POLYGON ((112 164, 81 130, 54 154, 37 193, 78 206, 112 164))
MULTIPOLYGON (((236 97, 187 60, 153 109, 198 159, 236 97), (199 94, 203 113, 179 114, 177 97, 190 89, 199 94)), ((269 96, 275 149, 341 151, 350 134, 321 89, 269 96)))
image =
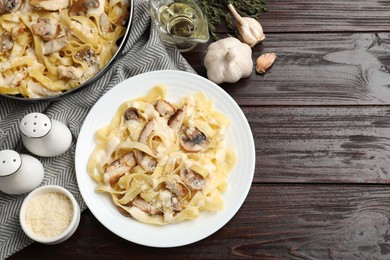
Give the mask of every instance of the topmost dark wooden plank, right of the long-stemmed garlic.
MULTIPOLYGON (((269 0, 259 21, 266 33, 389 32, 389 12, 389 0, 269 0)), ((234 33, 224 19, 217 29, 234 33)))

